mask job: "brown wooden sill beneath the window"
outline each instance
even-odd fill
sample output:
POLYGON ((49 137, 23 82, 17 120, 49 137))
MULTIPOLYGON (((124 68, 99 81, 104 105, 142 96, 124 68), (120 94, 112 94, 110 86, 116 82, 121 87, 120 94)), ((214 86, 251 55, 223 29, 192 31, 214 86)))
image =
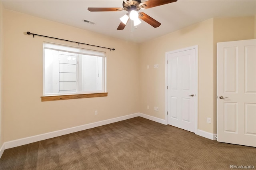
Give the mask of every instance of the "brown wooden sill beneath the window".
POLYGON ((108 96, 108 93, 91 93, 91 94, 77 94, 77 95, 42 96, 42 97, 41 97, 41 101, 82 99, 82 98, 106 97, 106 96, 108 96))

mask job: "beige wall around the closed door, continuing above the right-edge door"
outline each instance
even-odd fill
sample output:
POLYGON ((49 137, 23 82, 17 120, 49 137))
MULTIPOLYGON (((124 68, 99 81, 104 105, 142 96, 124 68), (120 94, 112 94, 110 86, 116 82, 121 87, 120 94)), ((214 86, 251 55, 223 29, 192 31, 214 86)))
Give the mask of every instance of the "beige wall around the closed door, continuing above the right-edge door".
POLYGON ((198 45, 198 129, 216 133, 216 43, 253 39, 254 32, 254 16, 215 18, 141 43, 140 111, 165 119, 165 52, 198 45), (206 123, 207 117, 212 124, 206 123))

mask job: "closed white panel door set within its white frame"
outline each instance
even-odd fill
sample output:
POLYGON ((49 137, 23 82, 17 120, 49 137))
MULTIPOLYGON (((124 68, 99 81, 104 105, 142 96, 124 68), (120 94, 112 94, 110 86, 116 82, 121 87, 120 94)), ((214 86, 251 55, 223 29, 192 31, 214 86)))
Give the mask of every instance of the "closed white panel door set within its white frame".
POLYGON ((168 124, 195 132, 195 50, 166 53, 168 124))

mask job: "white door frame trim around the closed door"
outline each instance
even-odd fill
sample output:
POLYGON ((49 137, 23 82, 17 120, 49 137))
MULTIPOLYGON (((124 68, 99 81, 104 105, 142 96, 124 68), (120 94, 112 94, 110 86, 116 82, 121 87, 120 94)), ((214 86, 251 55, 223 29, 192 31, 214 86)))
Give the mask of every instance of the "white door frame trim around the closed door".
MULTIPOLYGON (((198 45, 194 45, 191 47, 186 47, 182 49, 177 49, 174 51, 168 51, 166 54, 170 53, 177 53, 181 51, 186 51, 190 49, 195 49, 195 134, 198 133, 198 45)), ((168 93, 167 93, 167 55, 165 55, 165 124, 168 125, 168 116, 167 116, 167 109, 168 109, 168 93)))

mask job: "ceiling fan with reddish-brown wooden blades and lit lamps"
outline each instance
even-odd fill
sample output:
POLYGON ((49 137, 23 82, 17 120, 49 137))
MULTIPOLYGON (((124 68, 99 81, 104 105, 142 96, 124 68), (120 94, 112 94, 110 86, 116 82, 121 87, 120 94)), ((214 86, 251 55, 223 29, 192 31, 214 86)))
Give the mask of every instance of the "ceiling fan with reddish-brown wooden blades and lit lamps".
POLYGON ((176 2, 177 0, 148 0, 145 2, 141 2, 141 0, 124 0, 123 8, 88 8, 90 12, 106 12, 106 11, 128 11, 128 14, 125 14, 120 18, 121 23, 119 24, 117 30, 123 30, 126 26, 126 23, 129 19, 132 20, 134 26, 141 23, 139 18, 146 23, 150 24, 154 28, 157 28, 161 25, 160 22, 154 20, 144 12, 137 12, 138 10, 153 8, 155 6, 160 6, 164 4, 169 4, 172 2, 176 2))

